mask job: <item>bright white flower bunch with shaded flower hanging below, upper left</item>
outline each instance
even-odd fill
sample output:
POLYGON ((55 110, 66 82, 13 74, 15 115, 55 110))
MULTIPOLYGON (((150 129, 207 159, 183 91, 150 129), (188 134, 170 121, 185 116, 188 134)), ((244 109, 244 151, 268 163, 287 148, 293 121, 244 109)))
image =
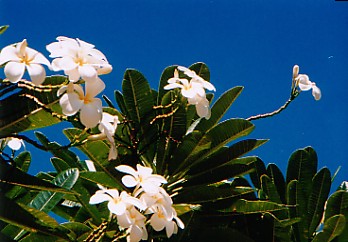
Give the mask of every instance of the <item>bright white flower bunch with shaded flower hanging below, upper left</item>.
POLYGON ((80 39, 58 37, 47 45, 54 71, 64 71, 70 83, 58 91, 62 112, 67 116, 80 111, 80 121, 86 128, 97 126, 102 120, 102 102, 96 96, 105 89, 101 74, 111 72, 112 66, 99 50, 80 39), (84 80, 85 91, 80 84, 84 80))

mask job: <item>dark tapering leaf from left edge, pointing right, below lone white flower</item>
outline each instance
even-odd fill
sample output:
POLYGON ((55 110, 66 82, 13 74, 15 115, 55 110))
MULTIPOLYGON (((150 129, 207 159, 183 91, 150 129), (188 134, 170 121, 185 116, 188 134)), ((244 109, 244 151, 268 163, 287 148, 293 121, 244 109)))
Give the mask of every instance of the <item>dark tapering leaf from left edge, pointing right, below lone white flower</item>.
POLYGON ((3 162, 0 162, 0 184, 15 185, 42 191, 72 193, 62 187, 29 175, 3 162))

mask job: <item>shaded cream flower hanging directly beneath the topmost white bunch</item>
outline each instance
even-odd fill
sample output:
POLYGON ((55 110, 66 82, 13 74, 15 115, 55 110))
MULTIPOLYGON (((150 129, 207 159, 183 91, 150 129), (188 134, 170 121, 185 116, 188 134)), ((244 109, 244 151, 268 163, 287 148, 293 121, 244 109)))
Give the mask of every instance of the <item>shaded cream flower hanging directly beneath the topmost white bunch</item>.
POLYGON ((80 121, 86 128, 93 128, 102 119, 102 102, 95 98, 105 88, 104 82, 97 78, 94 82, 86 82, 86 94, 82 87, 70 83, 58 91, 58 95, 66 92, 59 100, 62 111, 72 116, 80 111, 80 121))

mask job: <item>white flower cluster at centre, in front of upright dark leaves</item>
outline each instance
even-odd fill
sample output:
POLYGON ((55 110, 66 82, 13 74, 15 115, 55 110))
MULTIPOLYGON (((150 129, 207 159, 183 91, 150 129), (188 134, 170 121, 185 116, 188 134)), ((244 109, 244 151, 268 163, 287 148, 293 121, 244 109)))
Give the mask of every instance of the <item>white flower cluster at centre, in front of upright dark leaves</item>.
POLYGON ((168 80, 168 85, 164 86, 165 90, 180 88, 181 94, 187 98, 190 105, 196 106, 196 111, 201 118, 210 118, 210 106, 206 97, 205 89, 215 91, 215 87, 184 66, 178 66, 174 71, 174 77, 168 80), (186 75, 190 80, 179 77, 179 71, 186 75))

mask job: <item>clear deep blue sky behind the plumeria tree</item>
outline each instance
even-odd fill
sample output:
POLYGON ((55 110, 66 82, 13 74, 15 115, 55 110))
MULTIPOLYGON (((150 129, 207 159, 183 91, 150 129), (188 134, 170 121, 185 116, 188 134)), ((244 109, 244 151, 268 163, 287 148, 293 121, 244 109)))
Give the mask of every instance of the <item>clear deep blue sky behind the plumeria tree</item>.
MULTIPOLYGON (((289 97, 298 64, 322 90, 322 99, 303 92, 278 116, 253 121, 249 137, 270 139, 253 154, 285 171, 290 154, 311 145, 319 167, 333 173, 342 166, 334 188, 348 180, 348 2, 0 0, 0 20, 10 25, 0 36, 1 47, 26 38, 48 57, 45 46, 57 36, 94 44, 114 68, 102 76, 112 99, 126 68, 140 70, 157 88, 165 67, 205 62, 216 97, 245 87, 226 118, 277 109, 289 97)), ((57 127, 44 132, 66 143, 57 127)), ((35 152, 31 172, 52 169, 49 157, 35 152)))

